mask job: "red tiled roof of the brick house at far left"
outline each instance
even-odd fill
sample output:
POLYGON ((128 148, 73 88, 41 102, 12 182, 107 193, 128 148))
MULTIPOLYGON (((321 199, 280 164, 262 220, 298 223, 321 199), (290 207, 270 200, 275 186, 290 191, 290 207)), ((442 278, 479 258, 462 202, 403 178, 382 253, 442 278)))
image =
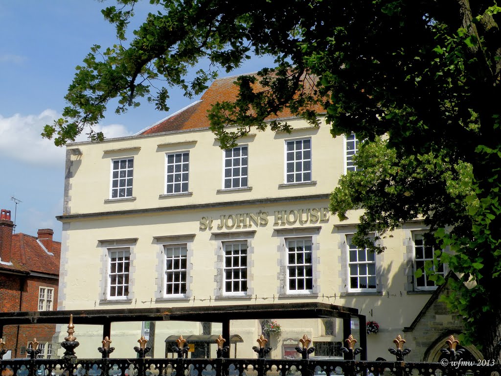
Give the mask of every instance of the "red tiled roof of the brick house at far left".
POLYGON ((0 264, 0 269, 18 272, 37 272, 59 275, 59 260, 61 257, 61 243, 52 242, 52 249, 47 250, 49 255, 37 238, 23 233, 12 236, 13 265, 0 264))

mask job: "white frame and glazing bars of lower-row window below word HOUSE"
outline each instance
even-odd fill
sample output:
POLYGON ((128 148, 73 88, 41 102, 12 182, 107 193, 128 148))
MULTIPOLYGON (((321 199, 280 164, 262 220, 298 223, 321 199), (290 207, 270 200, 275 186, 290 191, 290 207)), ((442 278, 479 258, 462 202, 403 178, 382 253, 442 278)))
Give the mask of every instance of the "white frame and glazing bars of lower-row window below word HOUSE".
MULTIPOLYGON (((286 293, 287 294, 311 294, 313 293, 313 285, 314 285, 314 279, 315 279, 315 273, 314 273, 314 268, 313 268, 313 238, 311 236, 305 236, 305 237, 287 237, 285 238, 285 247, 286 247, 286 293), (290 263, 290 259, 289 259, 289 242, 299 242, 299 241, 303 241, 304 242, 304 246, 306 246, 307 244, 309 245, 310 247, 310 262, 307 263, 306 262, 306 258, 303 257, 303 262, 300 262, 298 263, 297 261, 297 257, 295 258, 295 263, 294 264, 291 264, 290 263), (298 276, 298 270, 299 268, 298 267, 303 267, 303 276, 298 276), (310 266, 310 270, 311 270, 311 276, 307 276, 306 275, 306 268, 307 266, 310 266), (295 272, 295 276, 291 276, 291 271, 290 271, 290 268, 292 267, 295 267, 296 268, 296 272, 295 272), (290 280, 291 278, 294 278, 296 280, 296 289, 291 289, 290 287, 290 280), (304 282, 304 288, 303 289, 298 289, 298 281, 302 279, 303 282, 304 282), (307 279, 311 280, 311 285, 312 287, 311 288, 307 288, 307 279)), ((295 251, 295 254, 297 255, 298 252, 297 252, 297 248, 298 246, 296 245, 295 246, 296 248, 296 251, 295 251)), ((305 247, 306 248, 306 247, 305 247)), ((306 254, 306 251, 304 250, 303 252, 303 256, 306 254)))

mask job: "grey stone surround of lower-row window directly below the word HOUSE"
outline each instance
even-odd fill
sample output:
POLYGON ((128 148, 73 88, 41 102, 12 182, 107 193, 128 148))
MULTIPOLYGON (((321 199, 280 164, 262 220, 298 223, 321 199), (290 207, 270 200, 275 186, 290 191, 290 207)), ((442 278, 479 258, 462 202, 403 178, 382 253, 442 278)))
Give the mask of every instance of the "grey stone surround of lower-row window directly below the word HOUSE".
POLYGON ((283 228, 283 229, 273 229, 274 236, 278 238, 278 259, 277 264, 279 266, 279 273, 277 274, 277 280, 279 285, 277 286, 277 293, 279 297, 314 297, 318 296, 320 293, 320 271, 319 266, 321 265, 319 251, 320 244, 318 243, 318 234, 322 230, 321 226, 311 226, 311 227, 293 227, 293 228, 283 228), (288 292, 287 289, 287 239, 291 238, 312 238, 312 269, 313 269, 313 289, 311 292, 288 292))

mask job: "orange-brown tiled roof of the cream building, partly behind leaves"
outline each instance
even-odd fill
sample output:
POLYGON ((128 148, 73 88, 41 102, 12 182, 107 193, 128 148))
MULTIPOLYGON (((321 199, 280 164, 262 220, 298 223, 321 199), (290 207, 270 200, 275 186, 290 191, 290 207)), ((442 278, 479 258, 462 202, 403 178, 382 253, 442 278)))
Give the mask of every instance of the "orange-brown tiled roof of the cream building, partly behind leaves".
MULTIPOLYGON (((210 87, 205 90, 201 100, 185 107, 181 111, 174 113, 159 121, 158 123, 147 128, 141 134, 161 133, 176 130, 199 129, 208 127, 209 120, 207 111, 210 110, 215 102, 234 101, 238 94, 238 86, 234 84, 236 76, 216 79, 210 87)), ((313 86, 313 79, 305 80, 305 86, 313 86)), ((308 88, 307 88, 308 89, 308 88)), ((255 90, 263 90, 262 86, 256 84, 255 90)), ((320 106, 316 106, 315 110, 318 113, 323 113, 325 110, 320 106)), ((286 108, 284 112, 278 114, 279 118, 289 118, 293 116, 291 111, 286 108)), ((267 120, 274 120, 277 116, 271 115, 267 120)))

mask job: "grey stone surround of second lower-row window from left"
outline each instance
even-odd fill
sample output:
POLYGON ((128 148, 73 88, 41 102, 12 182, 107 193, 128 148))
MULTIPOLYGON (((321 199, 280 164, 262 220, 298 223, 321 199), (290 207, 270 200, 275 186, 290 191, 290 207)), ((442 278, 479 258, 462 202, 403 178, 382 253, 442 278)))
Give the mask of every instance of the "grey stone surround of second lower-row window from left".
POLYGON ((183 235, 168 235, 153 237, 154 244, 157 245, 156 254, 156 277, 155 285, 155 301, 168 301, 168 300, 189 300, 193 296, 191 286, 193 284, 193 240, 196 234, 183 234, 183 235), (165 245, 186 245, 186 293, 183 295, 175 294, 172 296, 165 294, 165 245))

